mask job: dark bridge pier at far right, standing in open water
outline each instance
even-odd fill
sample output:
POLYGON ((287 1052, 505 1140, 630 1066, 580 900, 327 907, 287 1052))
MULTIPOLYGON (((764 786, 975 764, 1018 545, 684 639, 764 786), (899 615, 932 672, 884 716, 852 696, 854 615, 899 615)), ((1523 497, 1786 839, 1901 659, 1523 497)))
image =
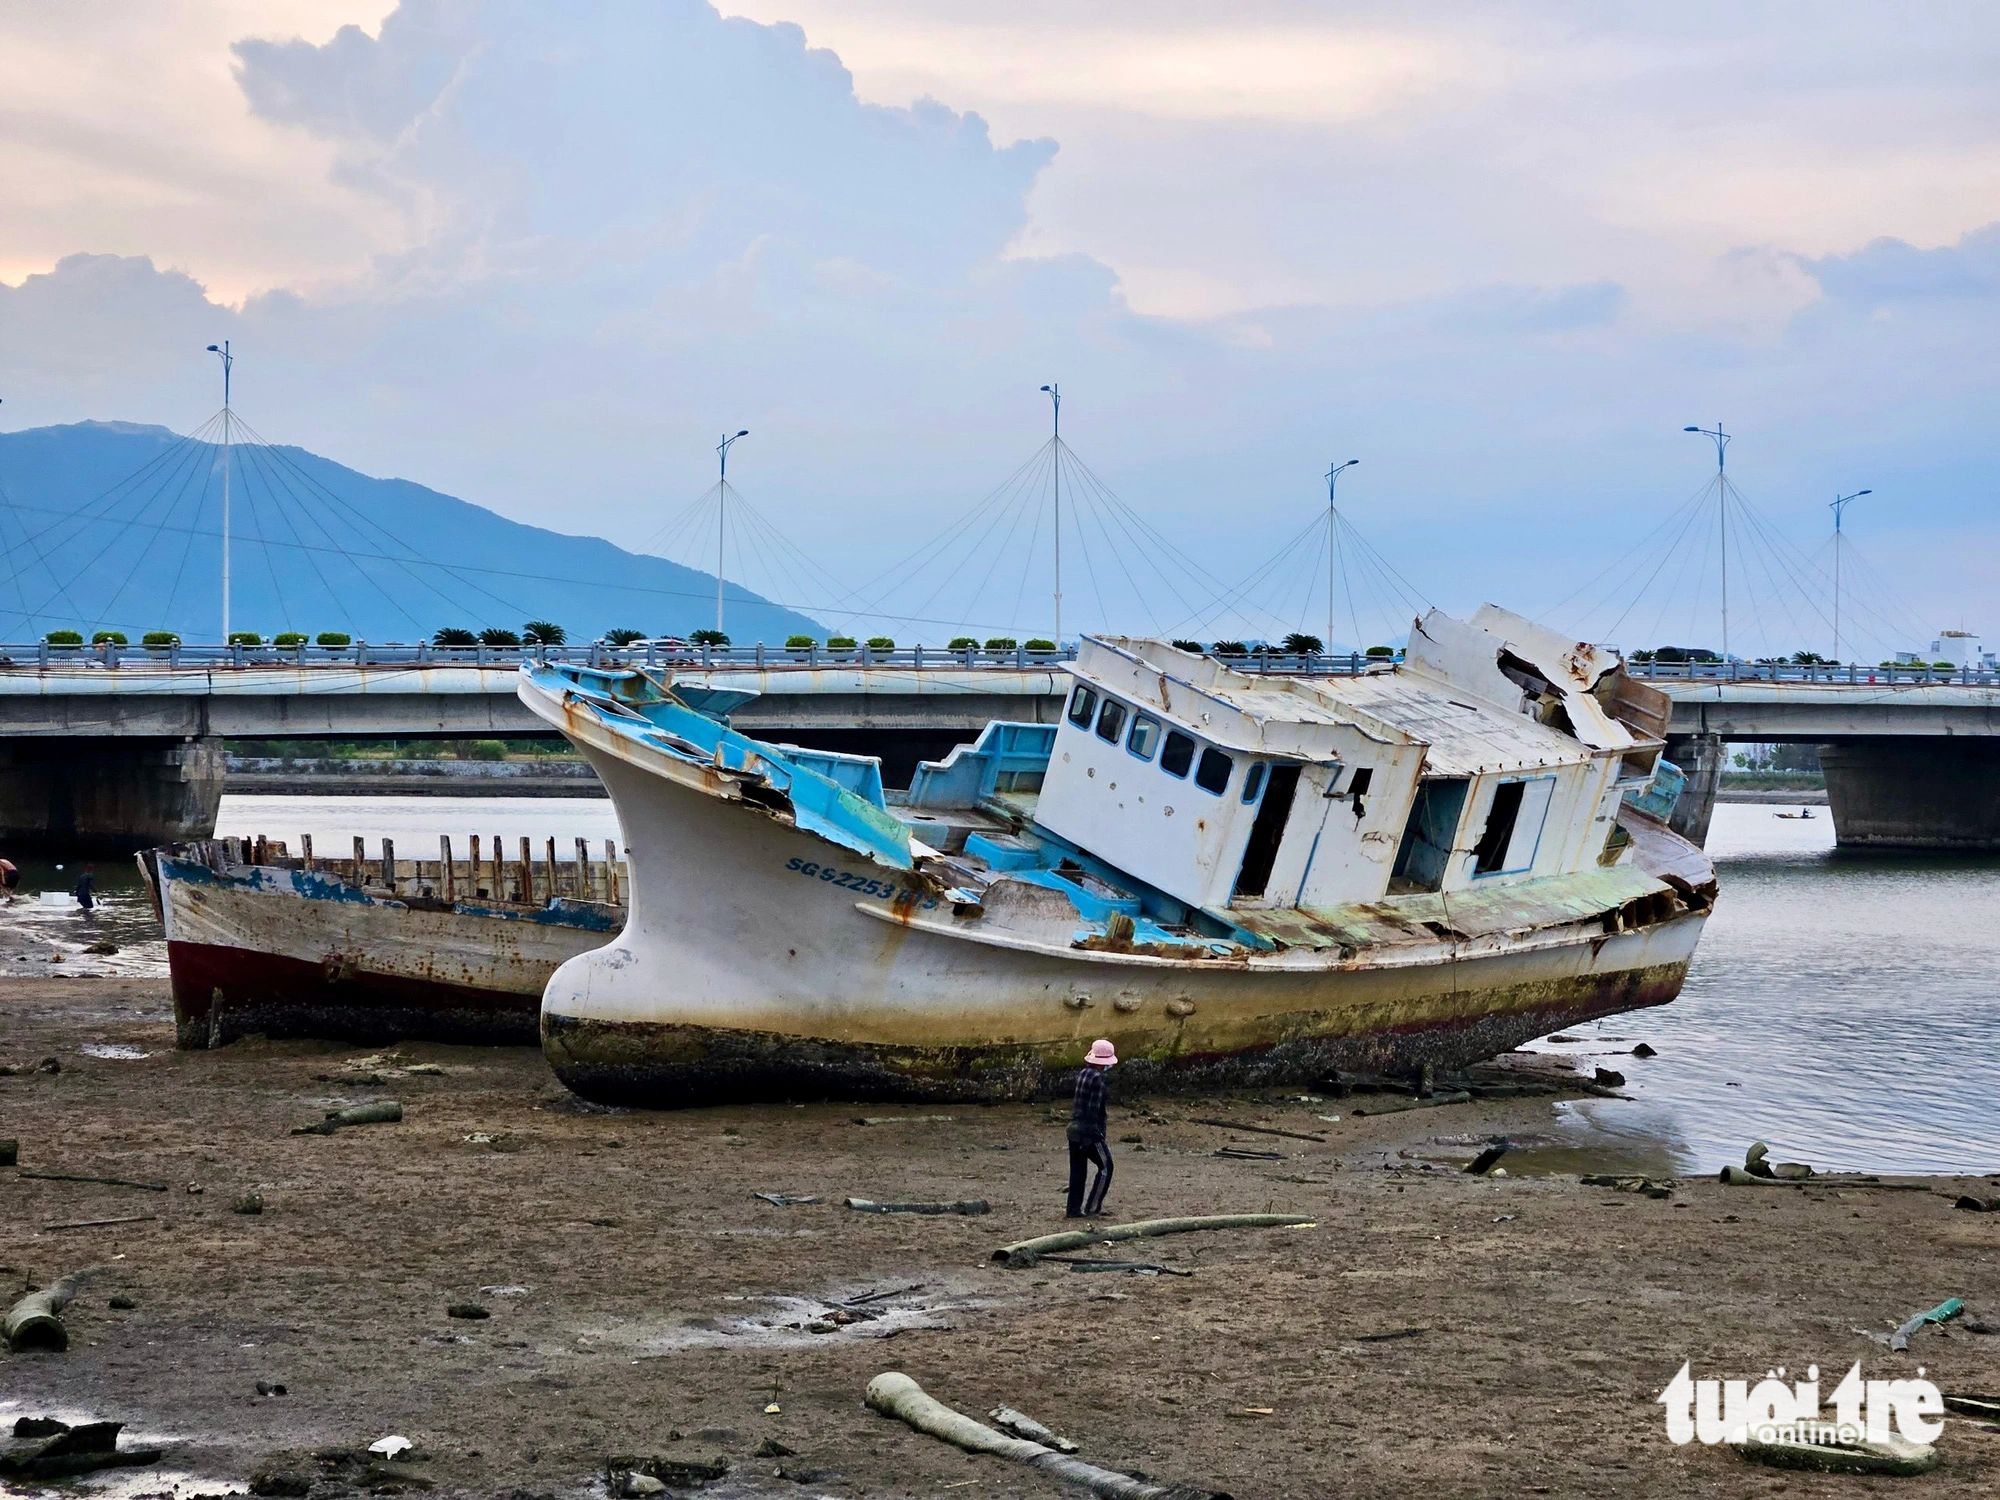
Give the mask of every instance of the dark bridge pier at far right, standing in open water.
POLYGON ((2000 740, 1846 740, 1820 766, 1842 848, 2000 850, 2000 740))

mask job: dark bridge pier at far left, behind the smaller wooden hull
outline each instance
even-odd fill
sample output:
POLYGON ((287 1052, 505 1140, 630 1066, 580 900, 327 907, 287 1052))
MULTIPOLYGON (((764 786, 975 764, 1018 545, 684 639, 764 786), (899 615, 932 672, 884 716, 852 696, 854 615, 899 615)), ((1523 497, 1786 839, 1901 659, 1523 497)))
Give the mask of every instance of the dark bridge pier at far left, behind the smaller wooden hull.
POLYGON ((0 850, 130 854, 208 838, 222 738, 0 738, 0 850))

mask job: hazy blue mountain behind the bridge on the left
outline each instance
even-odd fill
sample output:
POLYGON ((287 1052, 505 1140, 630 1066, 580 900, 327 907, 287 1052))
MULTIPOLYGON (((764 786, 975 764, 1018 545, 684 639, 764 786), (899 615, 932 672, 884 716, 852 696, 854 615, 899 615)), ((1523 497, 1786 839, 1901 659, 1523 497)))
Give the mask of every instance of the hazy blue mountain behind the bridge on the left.
MULTIPOLYGON (((222 448, 130 422, 0 432, 0 638, 48 630, 222 632, 222 448)), ((356 474, 304 448, 236 442, 230 458, 230 628, 428 640, 440 626, 572 642, 626 626, 686 636, 716 622, 714 574, 596 536, 524 526, 408 480, 356 474)), ((822 636, 736 584, 740 644, 822 636)))

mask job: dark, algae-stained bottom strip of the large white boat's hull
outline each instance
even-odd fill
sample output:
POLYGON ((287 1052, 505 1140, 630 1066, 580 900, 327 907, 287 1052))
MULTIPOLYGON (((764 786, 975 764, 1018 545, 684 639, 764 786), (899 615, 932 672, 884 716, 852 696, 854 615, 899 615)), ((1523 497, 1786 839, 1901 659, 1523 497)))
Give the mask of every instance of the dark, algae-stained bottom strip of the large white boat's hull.
MULTIPOLYGON (((1688 964, 1542 980, 1486 996, 1460 1020, 1352 1036, 1294 1034, 1244 1052, 1148 1056, 1138 1036, 1118 1040, 1118 1084, 1130 1094, 1308 1086, 1336 1072, 1438 1072, 1508 1052, 1536 1036, 1626 1010, 1664 1006, 1688 964)), ((1304 1028, 1300 1028, 1304 1030, 1304 1028)), ((1118 1030, 1110 1030, 1116 1040, 1118 1030)), ((870 1046, 716 1026, 542 1016, 542 1052, 574 1092, 604 1104, 690 1108, 758 1100, 1022 1100, 1066 1092, 1080 1064, 1068 1044, 870 1046)))

